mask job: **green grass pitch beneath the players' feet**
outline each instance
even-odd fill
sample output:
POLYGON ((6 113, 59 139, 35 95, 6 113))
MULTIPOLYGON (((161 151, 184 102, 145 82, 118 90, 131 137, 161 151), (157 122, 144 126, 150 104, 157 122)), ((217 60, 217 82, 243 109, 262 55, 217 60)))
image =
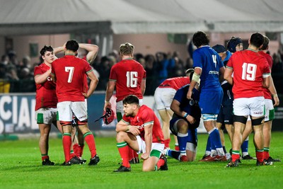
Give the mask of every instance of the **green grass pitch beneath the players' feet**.
MULTIPOLYGON (((231 148, 226 135, 226 149, 231 148)), ((207 134, 199 134, 197 160, 201 159, 207 134)), ((171 142, 173 144, 173 142, 171 142)), ((113 173, 120 155, 114 137, 96 137, 100 162, 97 166, 60 166, 64 161, 61 139, 50 139, 50 159, 55 166, 42 166, 38 139, 0 142, 0 188, 282 188, 283 163, 255 166, 256 160, 242 161, 236 168, 228 162, 179 162, 168 159, 168 171, 144 173, 140 164, 132 172, 113 173)), ((173 148, 173 145, 172 147, 173 148)), ((253 134, 249 152, 255 156, 253 134)), ((272 132, 270 155, 283 159, 283 132, 272 132)), ((89 161, 86 146, 83 158, 89 161)), ((88 163, 88 161, 86 163, 88 163)))

